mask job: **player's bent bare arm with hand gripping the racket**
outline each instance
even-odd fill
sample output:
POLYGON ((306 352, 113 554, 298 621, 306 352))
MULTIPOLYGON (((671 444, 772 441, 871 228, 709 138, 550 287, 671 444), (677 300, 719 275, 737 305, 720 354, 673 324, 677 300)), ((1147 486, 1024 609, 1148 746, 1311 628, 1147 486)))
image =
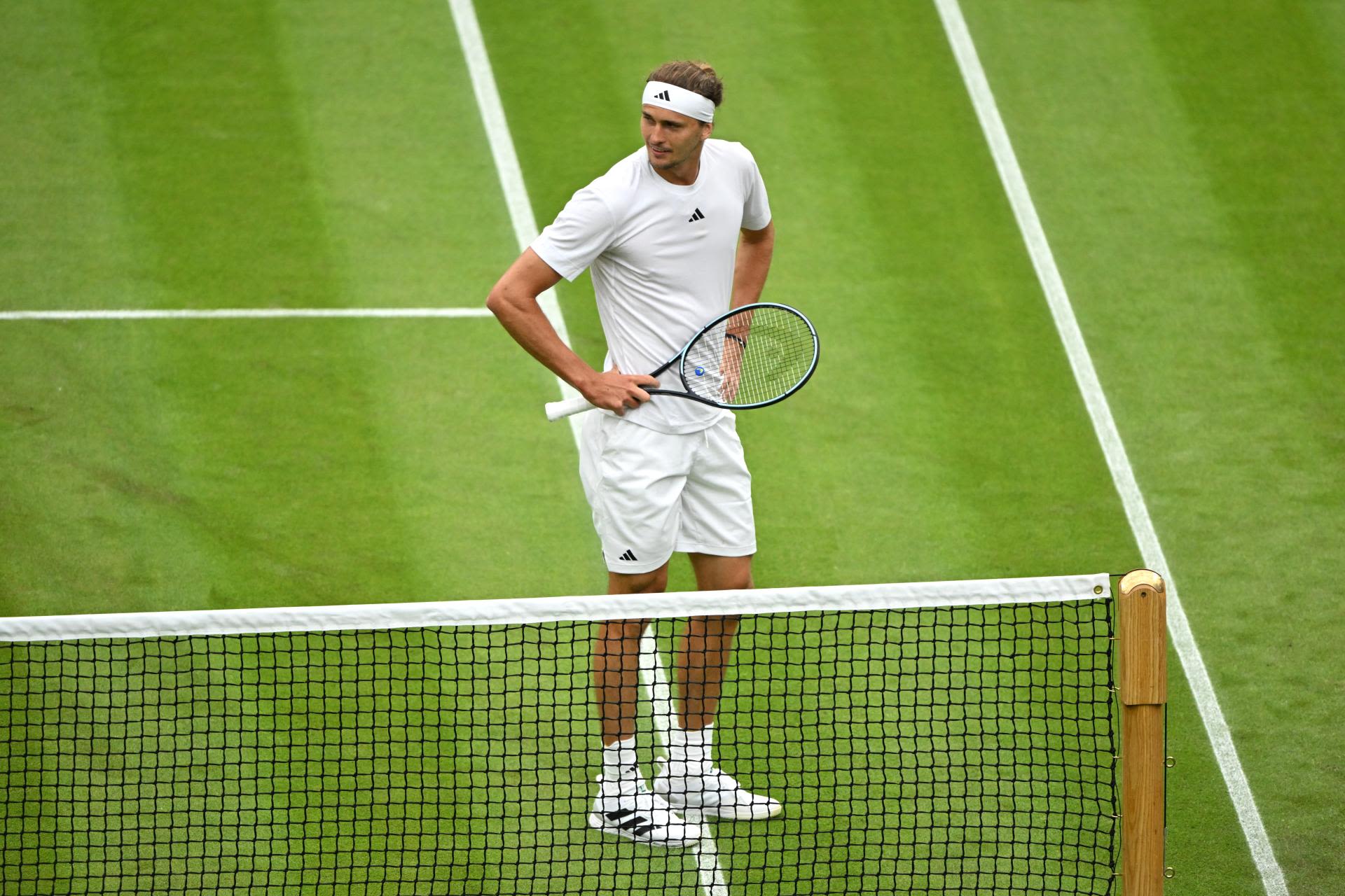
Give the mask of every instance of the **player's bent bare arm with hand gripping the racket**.
POLYGON ((486 300, 486 308, 495 314, 514 341, 577 388, 594 407, 624 414, 625 408, 639 407, 640 402, 650 400, 650 394, 640 387, 658 386, 656 379, 644 373, 623 373, 615 367, 599 373, 555 334, 555 328, 546 320, 537 297, 555 286, 560 279, 561 275, 550 265, 531 249, 526 249, 495 283, 486 300))

